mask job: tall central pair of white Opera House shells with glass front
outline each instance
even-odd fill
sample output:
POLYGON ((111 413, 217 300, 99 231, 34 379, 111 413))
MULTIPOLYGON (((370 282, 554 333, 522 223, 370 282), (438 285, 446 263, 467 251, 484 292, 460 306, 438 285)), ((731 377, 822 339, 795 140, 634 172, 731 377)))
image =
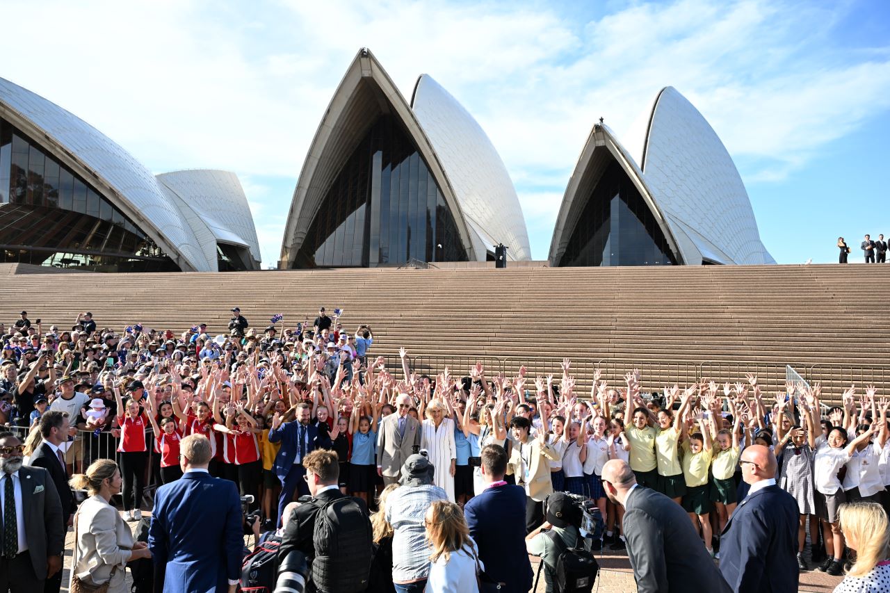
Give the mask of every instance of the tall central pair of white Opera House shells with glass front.
POLYGON ((488 136, 432 77, 407 102, 367 49, 322 118, 287 215, 281 268, 531 256, 513 182, 488 136))

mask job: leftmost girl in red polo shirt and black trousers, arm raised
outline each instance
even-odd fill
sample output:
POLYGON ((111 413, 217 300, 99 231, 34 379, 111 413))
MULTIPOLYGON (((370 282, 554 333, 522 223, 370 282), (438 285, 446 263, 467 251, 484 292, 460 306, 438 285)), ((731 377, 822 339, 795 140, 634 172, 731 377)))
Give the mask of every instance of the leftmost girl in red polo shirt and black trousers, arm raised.
POLYGON ((118 428, 114 435, 119 437, 117 463, 124 479, 124 511, 128 521, 138 521, 142 518, 140 506, 145 488, 145 464, 149 459, 149 445, 145 437, 149 418, 132 397, 128 397, 124 403, 117 386, 114 386, 114 396, 118 410, 118 428))

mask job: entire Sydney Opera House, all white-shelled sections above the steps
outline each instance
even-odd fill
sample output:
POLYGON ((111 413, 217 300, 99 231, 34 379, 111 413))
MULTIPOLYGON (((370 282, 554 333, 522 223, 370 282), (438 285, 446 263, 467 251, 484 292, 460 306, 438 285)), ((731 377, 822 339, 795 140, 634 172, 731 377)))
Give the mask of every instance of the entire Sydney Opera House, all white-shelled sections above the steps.
MULTIPOLYGON (((727 150, 667 87, 625 137, 595 124, 547 262, 772 264, 727 150)), ((555 205, 554 205, 555 206, 555 205)), ((514 184, 481 126, 433 77, 410 101, 362 49, 321 118, 280 269, 531 259, 514 184)), ((238 177, 153 175, 53 102, 0 78, 0 263, 96 272, 258 270, 238 177)))

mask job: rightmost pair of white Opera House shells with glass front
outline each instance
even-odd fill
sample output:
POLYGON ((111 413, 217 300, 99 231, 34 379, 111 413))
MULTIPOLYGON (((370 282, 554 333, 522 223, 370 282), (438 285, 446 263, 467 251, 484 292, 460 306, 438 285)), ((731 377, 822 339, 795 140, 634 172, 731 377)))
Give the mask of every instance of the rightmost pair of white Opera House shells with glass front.
POLYGON ((723 142, 672 87, 622 145, 595 124, 556 218, 550 265, 775 264, 723 142))

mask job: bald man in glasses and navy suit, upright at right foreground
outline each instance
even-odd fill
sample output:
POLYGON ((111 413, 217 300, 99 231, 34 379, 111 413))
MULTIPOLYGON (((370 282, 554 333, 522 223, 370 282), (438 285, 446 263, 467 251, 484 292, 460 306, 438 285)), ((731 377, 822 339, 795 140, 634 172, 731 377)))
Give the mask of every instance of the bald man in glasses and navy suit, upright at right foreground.
POLYGON ((721 536, 720 572, 736 593, 794 593, 797 502, 776 485, 773 451, 751 445, 742 451, 740 464, 751 488, 721 536))

